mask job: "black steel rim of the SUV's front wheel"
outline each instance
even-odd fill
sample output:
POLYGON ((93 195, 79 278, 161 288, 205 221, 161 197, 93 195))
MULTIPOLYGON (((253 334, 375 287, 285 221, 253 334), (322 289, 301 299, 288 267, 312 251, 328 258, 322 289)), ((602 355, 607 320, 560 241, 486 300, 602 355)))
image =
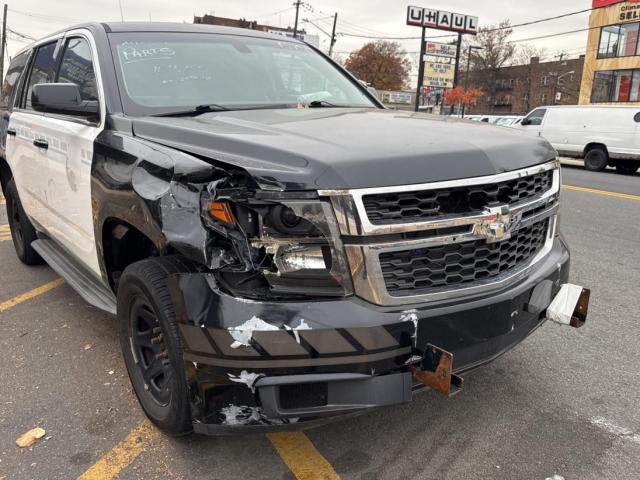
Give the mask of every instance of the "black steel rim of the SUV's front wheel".
POLYGON ((130 311, 131 347, 144 389, 159 405, 171 397, 171 365, 158 317, 142 297, 136 297, 130 311))

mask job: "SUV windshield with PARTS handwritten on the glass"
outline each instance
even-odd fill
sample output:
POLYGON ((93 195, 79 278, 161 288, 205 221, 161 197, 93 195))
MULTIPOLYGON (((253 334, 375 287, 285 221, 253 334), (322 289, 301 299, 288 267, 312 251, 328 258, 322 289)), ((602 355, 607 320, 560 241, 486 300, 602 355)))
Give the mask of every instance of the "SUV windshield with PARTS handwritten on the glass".
POLYGON ((209 33, 112 33, 125 113, 376 107, 331 62, 299 42, 209 33))

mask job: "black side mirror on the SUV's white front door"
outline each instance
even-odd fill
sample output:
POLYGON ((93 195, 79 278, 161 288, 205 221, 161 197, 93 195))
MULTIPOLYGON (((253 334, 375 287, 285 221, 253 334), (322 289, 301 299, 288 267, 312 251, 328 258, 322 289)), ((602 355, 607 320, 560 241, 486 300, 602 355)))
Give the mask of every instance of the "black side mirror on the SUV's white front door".
POLYGON ((82 100, 75 83, 39 83, 31 90, 31 106, 38 112, 97 117, 98 102, 82 100))

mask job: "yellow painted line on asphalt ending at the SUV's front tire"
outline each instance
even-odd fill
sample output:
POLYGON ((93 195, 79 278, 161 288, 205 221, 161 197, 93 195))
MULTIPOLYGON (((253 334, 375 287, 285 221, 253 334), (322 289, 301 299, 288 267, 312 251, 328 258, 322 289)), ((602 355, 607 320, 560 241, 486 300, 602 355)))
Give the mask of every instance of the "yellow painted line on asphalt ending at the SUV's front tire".
POLYGON ((118 476, 144 451, 144 449, 159 436, 158 430, 149 420, 131 430, 115 447, 108 451, 100 460, 77 480, 111 480, 118 476))

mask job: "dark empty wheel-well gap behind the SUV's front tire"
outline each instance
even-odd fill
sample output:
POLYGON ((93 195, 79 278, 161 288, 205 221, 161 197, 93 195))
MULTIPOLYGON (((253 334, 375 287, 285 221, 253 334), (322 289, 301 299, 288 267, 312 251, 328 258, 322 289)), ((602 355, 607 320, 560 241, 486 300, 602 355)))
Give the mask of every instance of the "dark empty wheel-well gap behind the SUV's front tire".
POLYGON ((119 219, 108 219, 102 228, 104 265, 114 291, 124 269, 132 263, 159 255, 154 243, 137 228, 119 219))

